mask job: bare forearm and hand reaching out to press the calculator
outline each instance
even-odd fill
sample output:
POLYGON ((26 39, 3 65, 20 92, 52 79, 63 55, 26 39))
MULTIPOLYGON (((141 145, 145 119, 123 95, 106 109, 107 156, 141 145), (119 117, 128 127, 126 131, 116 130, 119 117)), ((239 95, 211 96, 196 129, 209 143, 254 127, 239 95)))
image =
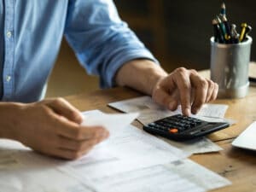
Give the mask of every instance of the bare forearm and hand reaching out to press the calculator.
POLYGON ((181 104, 185 115, 197 113, 203 103, 215 100, 218 94, 218 84, 195 70, 180 67, 167 74, 149 60, 126 62, 116 74, 116 83, 143 91, 171 110, 181 104))

